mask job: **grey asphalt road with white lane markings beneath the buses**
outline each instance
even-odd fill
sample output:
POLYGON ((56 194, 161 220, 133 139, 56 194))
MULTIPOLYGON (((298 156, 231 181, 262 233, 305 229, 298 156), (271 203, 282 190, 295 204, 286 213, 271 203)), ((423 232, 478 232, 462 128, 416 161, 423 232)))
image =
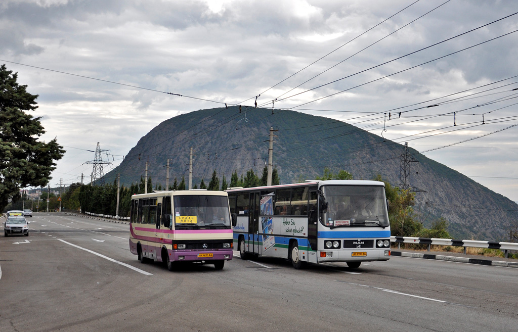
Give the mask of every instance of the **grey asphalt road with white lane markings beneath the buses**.
POLYGON ((169 272, 137 261, 128 225, 28 220, 28 237, 0 235, 2 332, 518 329, 516 268, 393 256, 295 270, 234 252, 220 271, 169 272))

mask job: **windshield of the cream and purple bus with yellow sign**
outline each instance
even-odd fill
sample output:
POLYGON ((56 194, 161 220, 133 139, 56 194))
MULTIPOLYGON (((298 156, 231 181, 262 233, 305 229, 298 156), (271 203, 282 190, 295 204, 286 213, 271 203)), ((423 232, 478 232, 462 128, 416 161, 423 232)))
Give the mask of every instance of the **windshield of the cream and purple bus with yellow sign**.
POLYGON ((181 195, 173 198, 175 229, 231 229, 224 196, 181 195))

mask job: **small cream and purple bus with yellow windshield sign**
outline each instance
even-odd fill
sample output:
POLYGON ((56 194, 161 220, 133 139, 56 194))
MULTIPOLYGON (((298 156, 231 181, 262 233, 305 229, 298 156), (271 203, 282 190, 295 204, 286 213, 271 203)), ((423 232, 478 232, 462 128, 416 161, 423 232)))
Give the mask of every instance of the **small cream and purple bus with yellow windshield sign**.
POLYGON ((130 250, 141 263, 175 270, 180 262, 214 264, 232 259, 233 235, 224 191, 159 191, 132 196, 130 250))

